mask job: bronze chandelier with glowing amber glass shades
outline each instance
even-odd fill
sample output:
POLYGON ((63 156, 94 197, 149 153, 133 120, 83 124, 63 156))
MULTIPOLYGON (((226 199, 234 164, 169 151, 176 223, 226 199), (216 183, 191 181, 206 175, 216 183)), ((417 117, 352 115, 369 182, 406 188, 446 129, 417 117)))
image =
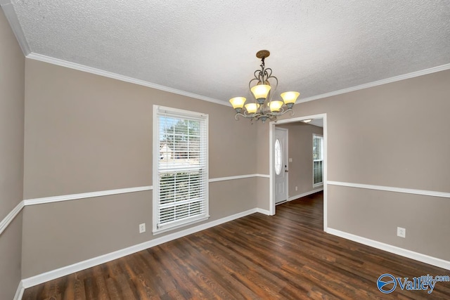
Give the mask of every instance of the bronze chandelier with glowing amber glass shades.
POLYGON ((234 116, 236 120, 239 117, 251 119, 251 122, 261 120, 263 123, 266 119, 274 120, 276 117, 291 112, 294 115, 293 106, 300 93, 296 91, 287 91, 281 93, 283 100, 272 100, 271 94, 275 93, 278 86, 278 79, 272 76, 272 69, 264 65, 264 58, 269 57, 270 52, 261 50, 256 53, 257 58, 261 58, 261 70, 256 70, 254 77, 248 83, 248 88, 252 91, 255 101, 245 104, 247 100, 244 97, 235 97, 230 99, 231 105, 236 110, 234 116), (253 85, 253 86, 252 86, 253 85), (274 89, 272 89, 274 86, 274 89))

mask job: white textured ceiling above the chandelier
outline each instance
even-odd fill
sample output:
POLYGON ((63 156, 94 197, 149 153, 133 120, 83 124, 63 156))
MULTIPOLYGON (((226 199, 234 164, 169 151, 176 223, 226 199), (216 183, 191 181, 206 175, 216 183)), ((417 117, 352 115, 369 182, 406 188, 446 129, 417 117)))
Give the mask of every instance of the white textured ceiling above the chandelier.
POLYGON ((227 101, 271 51, 300 98, 450 63, 444 0, 12 0, 30 51, 227 101))

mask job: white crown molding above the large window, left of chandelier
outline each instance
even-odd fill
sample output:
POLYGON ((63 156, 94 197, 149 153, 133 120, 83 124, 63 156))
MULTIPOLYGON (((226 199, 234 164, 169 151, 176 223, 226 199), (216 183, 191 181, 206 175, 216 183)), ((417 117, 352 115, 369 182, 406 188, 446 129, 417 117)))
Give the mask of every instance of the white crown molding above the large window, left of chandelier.
POLYGON ((181 96, 191 97, 191 98, 204 100, 204 101, 208 101, 208 102, 212 102, 212 103, 216 103, 216 104, 220 104, 220 105, 231 106, 231 104, 228 103, 228 101, 218 100, 218 99, 214 99, 214 98, 198 95, 196 93, 189 93, 187 91, 181 91, 179 89, 172 89, 169 86, 162 86, 160 84, 153 84, 152 82, 144 81, 144 80, 141 80, 141 79, 135 79, 133 77, 127 77, 127 76, 124 76, 124 75, 121 75, 121 74, 117 74, 117 73, 113 73, 113 72, 108 72, 108 71, 104 71, 104 70, 101 70, 101 69, 97 69, 95 67, 88 67, 86 65, 80 65, 78 63, 71 63, 70 61, 67 61, 67 60, 60 60, 58 58, 51 58, 50 56, 43 56, 41 54, 34 53, 34 52, 29 53, 27 55, 27 58, 30 58, 32 60, 39 60, 39 61, 42 61, 44 63, 51 63, 52 65, 59 65, 61 67, 68 67, 70 69, 79 70, 79 71, 82 71, 82 72, 88 72, 88 73, 100 75, 100 76, 103 76, 103 77, 108 77, 108 78, 113 78, 113 79, 117 79, 117 80, 120 80, 120 81, 129 82, 131 84, 139 84, 140 86, 147 86, 149 88, 158 89, 160 91, 167 91, 169 93, 176 93, 176 94, 181 95, 181 96))

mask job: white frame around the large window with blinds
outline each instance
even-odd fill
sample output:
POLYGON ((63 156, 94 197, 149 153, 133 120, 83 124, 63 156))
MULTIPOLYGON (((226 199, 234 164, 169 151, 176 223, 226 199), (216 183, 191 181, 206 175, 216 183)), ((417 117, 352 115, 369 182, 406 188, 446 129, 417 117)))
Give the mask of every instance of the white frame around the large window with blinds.
MULTIPOLYGON (((205 221, 210 218, 209 214, 209 173, 208 173, 208 115, 200 112, 192 112, 189 110, 180 110, 172 107, 165 107, 161 105, 153 105, 153 235, 159 233, 165 233, 169 230, 174 230, 176 228, 182 228, 193 223, 198 223, 200 221, 205 221), (174 223, 167 223, 166 225, 159 226, 159 212, 160 212, 160 117, 162 115, 167 115, 169 117, 195 120, 203 122, 203 126, 200 126, 200 130, 205 132, 200 132, 200 151, 203 151, 203 160, 199 164, 199 171, 205 172, 202 176, 202 181, 200 185, 203 186, 203 207, 204 211, 198 216, 188 216, 184 219, 179 219, 174 221, 174 223)), ((173 171, 186 171, 186 168, 181 167, 180 169, 171 169, 173 171)), ((167 171, 167 170, 166 170, 167 171)), ((164 173, 164 172, 162 172, 164 173)))

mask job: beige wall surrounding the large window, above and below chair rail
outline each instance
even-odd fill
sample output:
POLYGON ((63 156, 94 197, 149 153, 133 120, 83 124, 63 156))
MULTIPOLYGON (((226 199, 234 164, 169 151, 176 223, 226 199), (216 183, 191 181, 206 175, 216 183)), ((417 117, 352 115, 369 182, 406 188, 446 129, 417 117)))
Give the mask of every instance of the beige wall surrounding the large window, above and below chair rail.
MULTIPOLYGON (((210 178, 257 173, 257 126, 231 107, 37 60, 25 76, 25 199, 152 185, 154 104, 210 116, 210 178)), ((257 207, 256 184, 210 183, 208 221, 257 207)), ((26 207, 23 277, 153 239, 151 204, 148 191, 26 207)))

